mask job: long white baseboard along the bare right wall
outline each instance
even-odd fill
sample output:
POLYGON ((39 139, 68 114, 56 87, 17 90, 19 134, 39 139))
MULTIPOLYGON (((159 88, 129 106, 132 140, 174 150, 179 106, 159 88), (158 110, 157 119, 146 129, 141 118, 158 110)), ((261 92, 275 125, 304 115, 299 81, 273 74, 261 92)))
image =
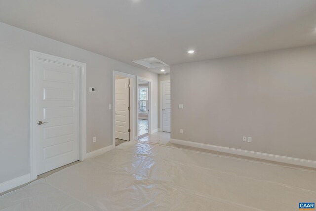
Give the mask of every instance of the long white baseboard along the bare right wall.
POLYGON ((192 141, 183 141, 183 140, 178 140, 178 139, 170 139, 170 142, 173 144, 180 144, 180 145, 185 145, 185 146, 190 146, 190 147, 197 147, 201 149, 214 150, 214 151, 230 153, 234 155, 241 155, 241 156, 247 156, 247 157, 252 157, 252 158, 259 158, 259 159, 264 159, 264 160, 269 160, 269 161, 280 162, 280 163, 316 168, 316 161, 312 161, 312 160, 292 158, 292 157, 286 157, 286 156, 281 156, 281 155, 273 155, 273 154, 268 154, 268 153, 254 152, 254 151, 222 147, 222 146, 216 146, 216 145, 210 145, 210 144, 202 144, 202 143, 197 143, 197 142, 192 142, 192 141))

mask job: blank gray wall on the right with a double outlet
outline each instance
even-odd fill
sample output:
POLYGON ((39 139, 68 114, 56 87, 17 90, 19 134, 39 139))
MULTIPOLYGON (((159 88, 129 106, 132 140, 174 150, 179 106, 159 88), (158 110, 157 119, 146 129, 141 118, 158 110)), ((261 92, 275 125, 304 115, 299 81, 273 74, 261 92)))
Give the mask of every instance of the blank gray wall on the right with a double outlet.
POLYGON ((316 160, 316 45, 173 65, 171 81, 171 138, 316 160))

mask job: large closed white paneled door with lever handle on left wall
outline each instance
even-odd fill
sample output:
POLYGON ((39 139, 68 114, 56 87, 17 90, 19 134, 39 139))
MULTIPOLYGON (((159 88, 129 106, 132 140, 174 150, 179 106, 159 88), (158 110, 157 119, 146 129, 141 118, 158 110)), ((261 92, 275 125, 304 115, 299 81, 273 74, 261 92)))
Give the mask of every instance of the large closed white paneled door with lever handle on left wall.
POLYGON ((36 58, 32 85, 39 175, 79 160, 79 67, 36 58))

